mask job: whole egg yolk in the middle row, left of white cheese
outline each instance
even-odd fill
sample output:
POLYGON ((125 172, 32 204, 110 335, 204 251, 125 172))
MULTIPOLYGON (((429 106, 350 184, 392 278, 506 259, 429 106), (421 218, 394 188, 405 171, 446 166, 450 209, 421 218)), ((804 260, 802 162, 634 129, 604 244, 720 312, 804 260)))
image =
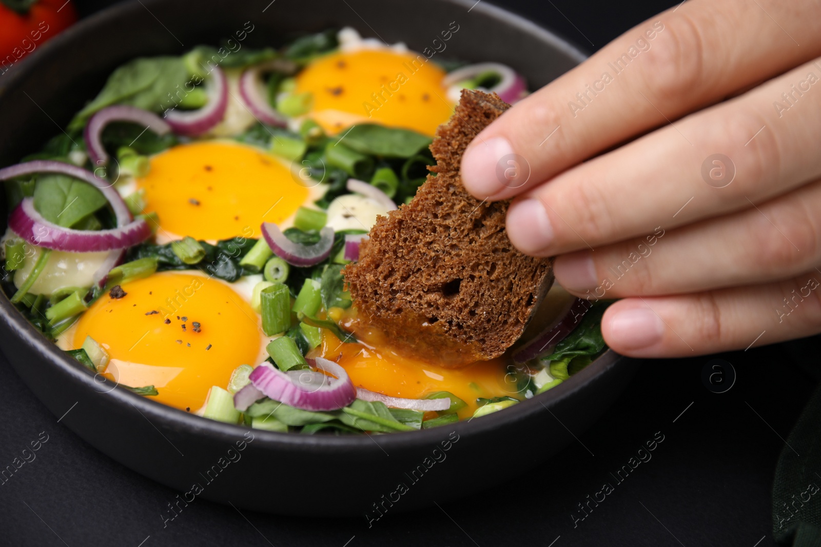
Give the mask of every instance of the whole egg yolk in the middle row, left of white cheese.
POLYGON ((309 194, 276 158, 227 141, 169 148, 151 158, 137 185, 167 239, 247 236, 263 221, 291 217, 309 194))

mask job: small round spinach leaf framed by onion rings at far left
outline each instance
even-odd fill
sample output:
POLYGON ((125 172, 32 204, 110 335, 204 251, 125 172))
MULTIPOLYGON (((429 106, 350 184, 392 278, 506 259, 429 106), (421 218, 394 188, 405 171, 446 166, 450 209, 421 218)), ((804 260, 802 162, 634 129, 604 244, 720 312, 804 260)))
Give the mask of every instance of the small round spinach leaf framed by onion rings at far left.
POLYGON ((74 226, 106 203, 99 189, 67 175, 40 175, 34 185, 34 208, 57 226, 74 226))

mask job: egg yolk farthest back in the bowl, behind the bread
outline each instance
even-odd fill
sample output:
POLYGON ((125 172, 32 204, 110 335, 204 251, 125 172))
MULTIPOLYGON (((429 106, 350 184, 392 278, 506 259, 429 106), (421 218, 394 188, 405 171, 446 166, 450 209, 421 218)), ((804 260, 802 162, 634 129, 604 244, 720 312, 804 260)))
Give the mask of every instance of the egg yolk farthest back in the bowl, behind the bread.
POLYGON ((308 116, 328 133, 369 122, 433 135, 453 113, 444 76, 424 55, 363 49, 310 63, 296 76, 296 93, 312 93, 308 116))

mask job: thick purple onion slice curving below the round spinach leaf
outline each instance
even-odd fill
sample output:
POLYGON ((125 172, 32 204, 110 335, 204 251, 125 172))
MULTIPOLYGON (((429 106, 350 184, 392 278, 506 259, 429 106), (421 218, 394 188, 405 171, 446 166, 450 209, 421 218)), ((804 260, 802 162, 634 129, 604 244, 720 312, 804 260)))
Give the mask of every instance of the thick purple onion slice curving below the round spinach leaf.
POLYGON ((95 253, 128 248, 151 237, 151 227, 143 218, 112 230, 63 228, 47 221, 37 212, 34 198, 24 198, 15 207, 8 217, 8 227, 30 244, 68 253, 95 253))

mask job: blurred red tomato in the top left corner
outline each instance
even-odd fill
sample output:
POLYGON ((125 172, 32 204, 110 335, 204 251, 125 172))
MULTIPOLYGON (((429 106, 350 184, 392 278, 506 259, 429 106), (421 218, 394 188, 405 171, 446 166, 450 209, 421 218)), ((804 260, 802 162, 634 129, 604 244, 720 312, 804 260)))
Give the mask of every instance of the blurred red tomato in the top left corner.
POLYGON ((0 74, 75 21, 71 0, 0 0, 0 74))

